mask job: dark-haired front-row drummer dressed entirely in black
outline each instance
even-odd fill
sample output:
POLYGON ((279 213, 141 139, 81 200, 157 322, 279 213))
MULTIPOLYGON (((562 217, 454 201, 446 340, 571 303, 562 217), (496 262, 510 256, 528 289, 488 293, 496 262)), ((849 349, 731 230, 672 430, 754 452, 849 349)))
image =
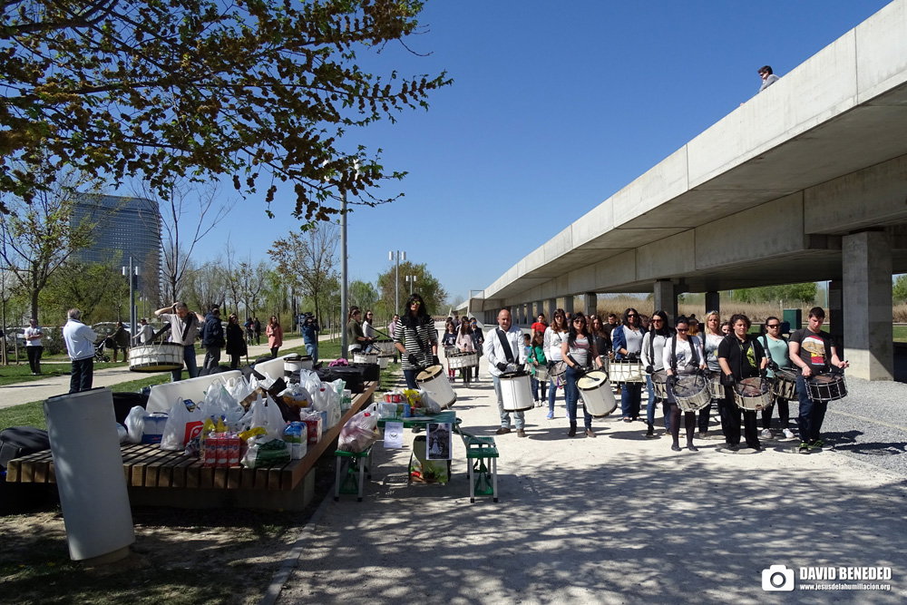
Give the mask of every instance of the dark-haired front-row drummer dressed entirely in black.
MULTIPOLYGON (((734 385, 744 378, 760 376, 766 367, 766 354, 755 338, 747 336, 749 317, 743 314, 731 316, 731 333, 718 345, 718 365, 724 374, 725 398, 718 400, 721 428, 725 433, 728 449, 736 451, 740 446, 740 408, 734 400, 734 385)), ((758 451, 759 429, 756 411, 743 410, 744 437, 746 445, 758 451)))

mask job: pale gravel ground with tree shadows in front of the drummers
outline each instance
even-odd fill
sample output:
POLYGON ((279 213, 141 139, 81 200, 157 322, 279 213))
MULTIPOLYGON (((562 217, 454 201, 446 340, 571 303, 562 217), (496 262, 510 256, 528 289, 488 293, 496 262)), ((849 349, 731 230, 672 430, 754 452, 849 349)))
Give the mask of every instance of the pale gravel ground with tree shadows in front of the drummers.
MULTIPOLYGON (((907 399, 907 385, 892 386, 907 399)), ((849 399, 855 405, 872 388, 853 380, 849 399)), ((456 391, 463 427, 493 434, 499 419, 484 363, 480 382, 456 391)), ((527 412, 528 438, 496 437, 496 504, 469 503, 458 439, 447 485, 407 485, 409 432, 405 450, 376 444, 364 502, 326 503, 300 536, 278 602, 907 600, 905 477, 862 462, 872 455, 794 454, 794 441, 732 454, 718 449, 720 439, 675 454, 668 438, 645 439, 644 423, 614 417, 593 421, 596 438, 568 438, 562 395, 554 420, 546 411, 527 412), (892 590, 813 592, 796 581, 793 593, 766 592, 770 565, 891 567, 892 590)))

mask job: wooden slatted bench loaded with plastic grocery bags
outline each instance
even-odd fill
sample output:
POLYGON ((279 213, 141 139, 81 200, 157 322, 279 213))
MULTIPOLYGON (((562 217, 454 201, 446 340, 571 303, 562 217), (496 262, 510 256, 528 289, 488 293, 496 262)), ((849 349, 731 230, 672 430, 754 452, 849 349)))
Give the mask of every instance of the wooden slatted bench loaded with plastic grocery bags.
MULTIPOLYGON (((352 406, 340 422, 328 429, 317 445, 300 460, 272 468, 205 468, 199 458, 182 452, 161 450, 157 444, 125 444, 122 467, 132 505, 181 508, 264 508, 301 510, 311 501, 315 486, 313 466, 336 447, 346 421, 372 403, 377 384, 353 397, 352 406)), ((11 460, 6 481, 55 483, 54 459, 49 450, 11 460)))

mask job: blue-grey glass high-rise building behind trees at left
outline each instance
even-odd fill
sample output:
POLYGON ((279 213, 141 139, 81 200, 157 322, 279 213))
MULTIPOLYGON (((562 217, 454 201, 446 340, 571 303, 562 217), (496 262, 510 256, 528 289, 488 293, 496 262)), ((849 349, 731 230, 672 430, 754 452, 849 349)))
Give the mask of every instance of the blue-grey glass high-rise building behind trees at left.
POLYGON ((73 254, 79 262, 107 262, 122 252, 139 266, 139 290, 157 303, 161 291, 161 211, 146 198, 83 193, 76 200, 71 226, 89 220, 95 224, 92 244, 73 254))

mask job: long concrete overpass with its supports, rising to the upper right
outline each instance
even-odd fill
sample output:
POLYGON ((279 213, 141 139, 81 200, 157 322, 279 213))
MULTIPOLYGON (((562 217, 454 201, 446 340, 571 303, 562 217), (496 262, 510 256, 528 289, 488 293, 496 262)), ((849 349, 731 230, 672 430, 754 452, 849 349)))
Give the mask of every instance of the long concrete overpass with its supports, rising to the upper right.
MULTIPOLYGON (((552 200, 553 201, 553 200, 552 200)), ((562 203, 563 200, 557 200, 562 203)), ((895 0, 533 250, 471 298, 486 323, 599 292, 833 280, 851 374, 892 379, 907 272, 907 0, 895 0)), ((569 309, 568 309, 569 310, 569 309)))

